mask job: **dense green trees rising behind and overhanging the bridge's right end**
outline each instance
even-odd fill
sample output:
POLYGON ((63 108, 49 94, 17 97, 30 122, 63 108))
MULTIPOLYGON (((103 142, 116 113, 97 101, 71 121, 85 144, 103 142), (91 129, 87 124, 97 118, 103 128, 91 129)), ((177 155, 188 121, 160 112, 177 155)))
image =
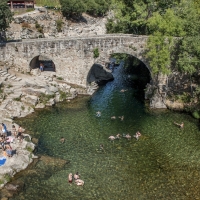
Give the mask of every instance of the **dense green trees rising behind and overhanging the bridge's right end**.
POLYGON ((153 73, 169 74, 172 63, 188 74, 198 71, 200 1, 115 0, 113 8, 108 33, 150 35, 146 57, 153 73))

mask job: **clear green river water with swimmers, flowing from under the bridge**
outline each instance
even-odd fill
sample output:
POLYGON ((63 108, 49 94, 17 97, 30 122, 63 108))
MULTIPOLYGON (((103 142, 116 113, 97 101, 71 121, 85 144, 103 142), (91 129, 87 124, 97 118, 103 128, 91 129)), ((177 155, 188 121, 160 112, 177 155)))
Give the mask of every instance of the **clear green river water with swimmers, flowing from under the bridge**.
POLYGON ((24 190, 12 200, 157 200, 200 199, 200 132, 189 115, 149 111, 138 100, 122 68, 115 80, 92 97, 80 97, 19 119, 39 139, 38 155, 69 160, 63 167, 41 162, 18 179, 24 190), (121 93, 121 89, 128 91, 121 93), (101 117, 95 113, 101 111, 101 117), (111 116, 124 115, 124 121, 111 116), (184 122, 183 130, 173 124, 184 122), (109 141, 110 135, 136 131, 139 141, 109 141), (61 144, 60 137, 66 142, 61 144), (103 144, 105 152, 98 151, 103 144), (34 173, 31 173, 33 172, 34 173), (79 172, 83 187, 68 183, 79 172))

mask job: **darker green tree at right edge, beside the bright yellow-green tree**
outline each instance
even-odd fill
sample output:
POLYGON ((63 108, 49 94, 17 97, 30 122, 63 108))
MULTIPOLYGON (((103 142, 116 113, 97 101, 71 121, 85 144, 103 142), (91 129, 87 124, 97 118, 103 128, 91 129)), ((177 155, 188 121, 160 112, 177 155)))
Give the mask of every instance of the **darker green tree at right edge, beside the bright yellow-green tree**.
POLYGON ((180 40, 177 66, 182 72, 192 74, 200 66, 200 2, 183 1, 177 9, 184 23, 185 36, 180 40))

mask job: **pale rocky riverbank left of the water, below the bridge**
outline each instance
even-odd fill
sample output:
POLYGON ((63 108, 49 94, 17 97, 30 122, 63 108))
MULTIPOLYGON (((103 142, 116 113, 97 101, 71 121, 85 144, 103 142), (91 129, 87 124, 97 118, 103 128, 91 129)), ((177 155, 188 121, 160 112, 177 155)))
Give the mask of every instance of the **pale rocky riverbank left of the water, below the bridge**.
MULTIPOLYGON (((33 113, 35 109, 53 106, 64 100, 70 103, 78 93, 86 94, 85 88, 72 87, 56 77, 54 72, 38 74, 36 73, 38 69, 36 69, 31 74, 21 74, 12 69, 6 72, 3 70, 3 65, 1 67, 0 121, 7 125, 8 130, 11 130, 15 118, 25 117, 33 113)), ((23 142, 14 140, 11 147, 15 151, 14 155, 7 158, 6 163, 0 167, 0 188, 17 172, 27 168, 33 162, 33 158, 36 158, 33 154, 35 144, 29 135, 26 135, 23 142)), ((3 151, 0 155, 3 156, 3 151)), ((14 188, 11 187, 11 190, 14 188)))

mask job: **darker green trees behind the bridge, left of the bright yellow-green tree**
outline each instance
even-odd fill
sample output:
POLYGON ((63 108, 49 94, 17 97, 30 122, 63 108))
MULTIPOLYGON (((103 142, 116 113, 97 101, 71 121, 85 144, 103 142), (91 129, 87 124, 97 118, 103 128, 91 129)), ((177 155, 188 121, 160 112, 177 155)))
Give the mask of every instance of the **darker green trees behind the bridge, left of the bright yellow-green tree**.
POLYGON ((147 20, 154 12, 164 14, 179 0, 115 0, 115 19, 107 24, 108 33, 133 33, 148 35, 147 20))

